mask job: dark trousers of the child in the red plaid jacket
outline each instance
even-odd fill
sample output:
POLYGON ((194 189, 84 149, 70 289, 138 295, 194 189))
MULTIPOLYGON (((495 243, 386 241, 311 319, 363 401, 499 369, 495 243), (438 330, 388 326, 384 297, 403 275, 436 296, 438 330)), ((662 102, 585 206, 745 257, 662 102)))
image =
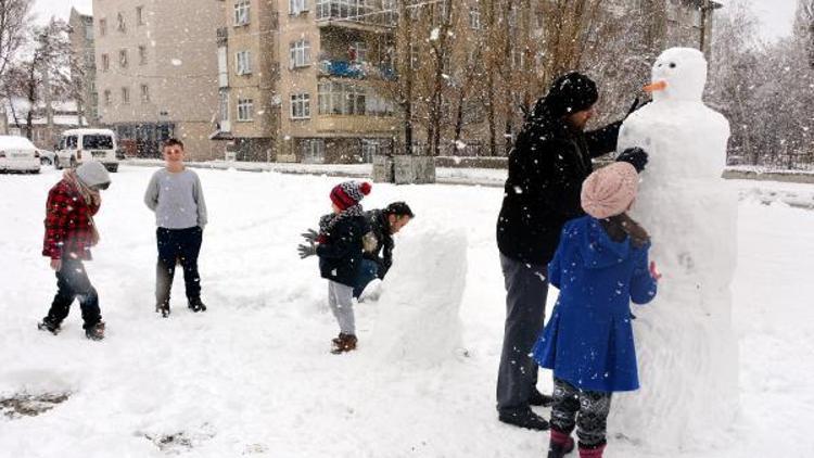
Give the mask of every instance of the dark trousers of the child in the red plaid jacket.
POLYGON ((90 284, 88 272, 80 259, 63 259, 62 267, 56 271, 56 295, 51 303, 46 320, 59 326, 71 311, 71 304, 79 300, 82 310, 82 328, 90 329, 102 320, 99 309, 99 295, 90 284))

